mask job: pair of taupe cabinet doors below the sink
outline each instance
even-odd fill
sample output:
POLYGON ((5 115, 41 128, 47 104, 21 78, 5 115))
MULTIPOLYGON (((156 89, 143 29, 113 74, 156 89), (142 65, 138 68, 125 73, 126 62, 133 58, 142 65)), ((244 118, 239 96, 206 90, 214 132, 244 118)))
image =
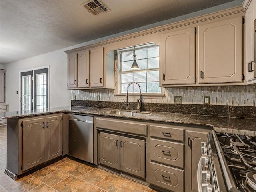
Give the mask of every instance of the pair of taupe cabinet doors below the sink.
POLYGON ((145 140, 100 132, 99 163, 145 177, 145 140))

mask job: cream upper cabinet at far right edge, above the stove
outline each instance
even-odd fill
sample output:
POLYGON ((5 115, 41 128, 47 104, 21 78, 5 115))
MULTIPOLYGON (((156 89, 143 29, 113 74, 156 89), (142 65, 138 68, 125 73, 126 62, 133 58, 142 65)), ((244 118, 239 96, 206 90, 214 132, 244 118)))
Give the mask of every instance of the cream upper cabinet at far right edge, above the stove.
POLYGON ((252 0, 245 14, 245 79, 248 84, 256 83, 254 60, 254 20, 256 19, 256 1, 252 0), (255 75, 254 75, 255 74, 255 75))

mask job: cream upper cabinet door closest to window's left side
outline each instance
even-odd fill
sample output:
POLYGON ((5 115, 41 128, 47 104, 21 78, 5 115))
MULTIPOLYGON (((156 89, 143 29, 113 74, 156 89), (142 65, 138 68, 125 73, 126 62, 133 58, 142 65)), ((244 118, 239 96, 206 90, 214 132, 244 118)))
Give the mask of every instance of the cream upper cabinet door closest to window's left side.
POLYGON ((103 87, 103 47, 91 50, 90 87, 103 87))

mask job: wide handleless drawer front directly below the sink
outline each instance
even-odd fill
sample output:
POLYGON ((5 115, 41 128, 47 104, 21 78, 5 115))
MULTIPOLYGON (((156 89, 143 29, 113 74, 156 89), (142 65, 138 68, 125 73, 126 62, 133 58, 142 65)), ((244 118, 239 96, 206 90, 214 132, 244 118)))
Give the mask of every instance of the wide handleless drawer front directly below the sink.
POLYGON ((95 125, 97 128, 147 135, 147 124, 135 121, 110 118, 96 118, 95 125))

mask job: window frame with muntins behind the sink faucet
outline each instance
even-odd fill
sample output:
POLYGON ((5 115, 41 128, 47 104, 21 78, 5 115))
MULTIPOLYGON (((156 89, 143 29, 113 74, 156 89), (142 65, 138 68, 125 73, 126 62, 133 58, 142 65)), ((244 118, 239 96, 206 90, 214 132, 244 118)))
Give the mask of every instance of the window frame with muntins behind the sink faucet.
MULTIPOLYGON (((142 48, 151 48, 151 47, 156 47, 158 46, 159 48, 159 45, 158 44, 154 44, 154 43, 150 43, 150 44, 142 44, 142 45, 137 45, 137 46, 133 46, 133 47, 128 47, 128 48, 124 48, 124 49, 119 49, 119 50, 116 50, 116 63, 117 63, 117 81, 116 81, 116 96, 122 96, 124 94, 126 94, 126 92, 122 92, 122 78, 121 78, 121 75, 122 74, 128 74, 128 73, 132 73, 133 75, 135 73, 139 73, 139 72, 150 72, 150 71, 160 71, 160 67, 158 68, 150 68, 150 69, 137 69, 137 70, 129 70, 129 71, 122 71, 121 68, 122 68, 122 52, 128 52, 128 51, 133 51, 133 50, 140 50, 142 48)), ((158 54, 158 58, 160 57, 160 54, 158 54)), ((147 62, 148 62, 148 59, 150 58, 155 58, 155 57, 149 57, 148 56, 146 58, 143 58, 143 59, 146 59, 147 62)), ((137 60, 137 59, 136 59, 137 60)), ((139 60, 139 59, 138 59, 139 60)), ((132 60, 131 60, 132 61, 132 60)), ((148 65, 148 63, 147 63, 148 65)), ((160 63, 159 63, 159 66, 160 66, 160 63)), ((148 66, 147 66, 148 67, 148 66)), ((159 76, 160 78, 160 76, 159 76)), ((155 81, 154 81, 155 82, 155 81)), ((138 82, 140 84, 140 82, 138 82)), ((146 82, 142 82, 142 83, 146 83, 146 86, 148 83, 147 79, 146 79, 146 82)), ((160 85, 160 80, 158 80, 158 83, 160 85)), ((160 86, 159 86, 160 87, 160 86)), ((129 92, 129 95, 138 95, 139 93, 138 92, 129 92)), ((162 94, 162 87, 160 87, 160 92, 142 92, 142 95, 145 95, 145 96, 160 96, 161 98, 164 96, 162 94)))

